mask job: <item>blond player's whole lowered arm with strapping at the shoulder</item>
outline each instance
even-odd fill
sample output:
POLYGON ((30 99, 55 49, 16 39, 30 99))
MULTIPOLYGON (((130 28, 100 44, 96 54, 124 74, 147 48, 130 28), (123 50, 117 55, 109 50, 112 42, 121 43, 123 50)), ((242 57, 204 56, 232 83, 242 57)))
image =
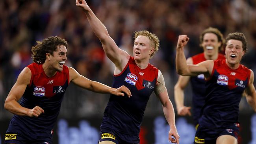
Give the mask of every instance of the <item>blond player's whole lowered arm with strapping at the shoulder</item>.
POLYGON ((173 104, 171 100, 169 99, 167 89, 165 87, 165 81, 163 79, 163 75, 161 74, 159 70, 158 74, 158 81, 156 83, 156 87, 154 88, 154 92, 156 96, 158 96, 159 100, 162 103, 163 107, 163 113, 165 115, 165 118, 170 126, 170 131, 169 131, 169 141, 173 143, 179 144, 179 138, 180 136, 178 135, 176 125, 175 125, 175 114, 174 114, 174 109, 173 109, 173 104), (172 138, 172 136, 175 138, 172 138))

